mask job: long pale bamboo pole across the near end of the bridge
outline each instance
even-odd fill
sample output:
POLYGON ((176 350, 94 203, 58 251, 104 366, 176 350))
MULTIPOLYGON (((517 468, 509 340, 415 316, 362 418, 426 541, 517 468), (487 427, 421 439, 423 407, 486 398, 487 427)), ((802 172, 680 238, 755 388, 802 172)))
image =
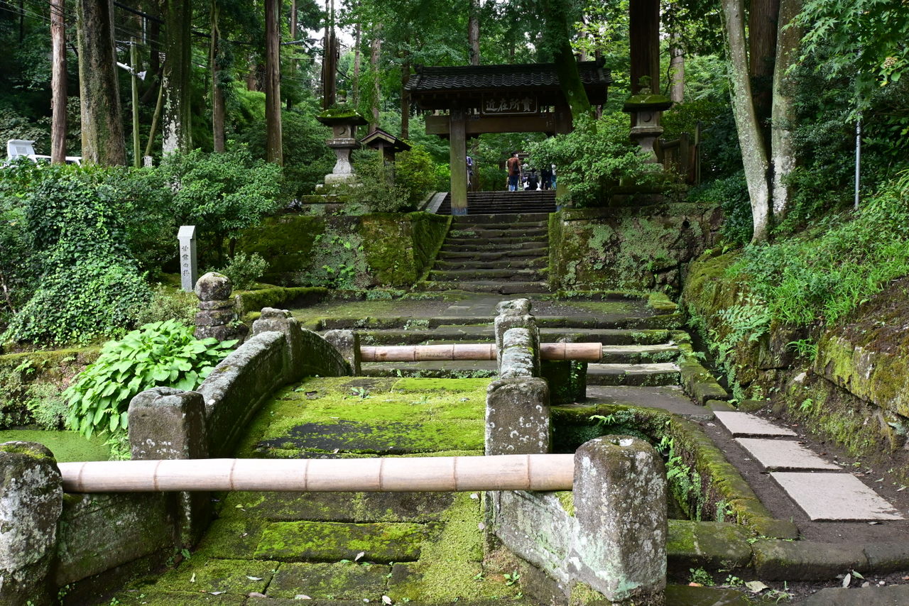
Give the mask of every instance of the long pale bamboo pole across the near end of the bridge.
POLYGON ((57 463, 65 492, 568 491, 573 454, 57 463))

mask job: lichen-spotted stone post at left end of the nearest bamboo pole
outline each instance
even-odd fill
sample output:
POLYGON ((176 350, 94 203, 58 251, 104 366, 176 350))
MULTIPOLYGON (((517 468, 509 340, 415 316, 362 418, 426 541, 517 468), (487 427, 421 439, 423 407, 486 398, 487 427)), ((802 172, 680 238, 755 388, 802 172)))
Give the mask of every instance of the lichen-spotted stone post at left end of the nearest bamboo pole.
POLYGON ((0 444, 0 606, 56 603, 51 571, 61 512, 54 454, 35 442, 0 444))

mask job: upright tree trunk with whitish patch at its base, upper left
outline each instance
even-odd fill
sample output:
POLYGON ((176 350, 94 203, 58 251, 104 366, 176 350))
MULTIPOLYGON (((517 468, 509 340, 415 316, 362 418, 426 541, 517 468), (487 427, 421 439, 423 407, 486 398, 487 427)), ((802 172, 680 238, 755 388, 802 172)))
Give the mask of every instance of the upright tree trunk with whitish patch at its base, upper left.
POLYGON ((165 154, 187 153, 193 147, 190 122, 192 120, 192 43, 190 24, 193 7, 190 0, 165 2, 165 87, 162 132, 165 154))

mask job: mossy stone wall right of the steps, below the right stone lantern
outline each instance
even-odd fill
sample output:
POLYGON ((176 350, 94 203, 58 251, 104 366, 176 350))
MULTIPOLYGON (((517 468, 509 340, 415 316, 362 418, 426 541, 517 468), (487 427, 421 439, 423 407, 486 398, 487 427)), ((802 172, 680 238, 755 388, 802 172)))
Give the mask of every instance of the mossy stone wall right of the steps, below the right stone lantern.
POLYGON ((565 291, 681 290, 684 267, 714 243, 711 204, 564 209, 549 223, 549 280, 565 291))

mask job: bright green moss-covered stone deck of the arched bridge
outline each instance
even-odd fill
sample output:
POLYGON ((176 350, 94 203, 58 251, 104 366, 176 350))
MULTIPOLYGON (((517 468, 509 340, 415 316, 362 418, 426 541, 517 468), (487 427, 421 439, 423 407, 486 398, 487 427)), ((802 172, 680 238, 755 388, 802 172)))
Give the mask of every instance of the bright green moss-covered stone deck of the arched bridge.
MULTIPOLYGON (((308 379, 275 394, 238 454, 272 456, 263 443, 300 439, 304 442, 276 450, 287 456, 353 456, 352 441, 375 443, 369 428, 392 427, 397 433, 389 442, 409 441, 420 456, 479 455, 488 384, 488 379, 308 379), (327 431, 295 437, 294 428, 306 425, 327 431), (318 442, 317 452, 306 445, 310 439, 318 442)), ((387 455, 389 448, 371 454, 387 455)), ((118 600, 189 606, 209 603, 196 601, 202 591, 224 591, 217 596, 222 601, 210 603, 231 604, 250 592, 278 600, 305 595, 314 601, 381 603, 387 595, 395 603, 479 603, 513 601, 520 591, 504 577, 510 569, 484 560, 484 513, 476 493, 232 492, 216 498, 218 519, 191 557, 163 576, 135 583, 118 600)))

